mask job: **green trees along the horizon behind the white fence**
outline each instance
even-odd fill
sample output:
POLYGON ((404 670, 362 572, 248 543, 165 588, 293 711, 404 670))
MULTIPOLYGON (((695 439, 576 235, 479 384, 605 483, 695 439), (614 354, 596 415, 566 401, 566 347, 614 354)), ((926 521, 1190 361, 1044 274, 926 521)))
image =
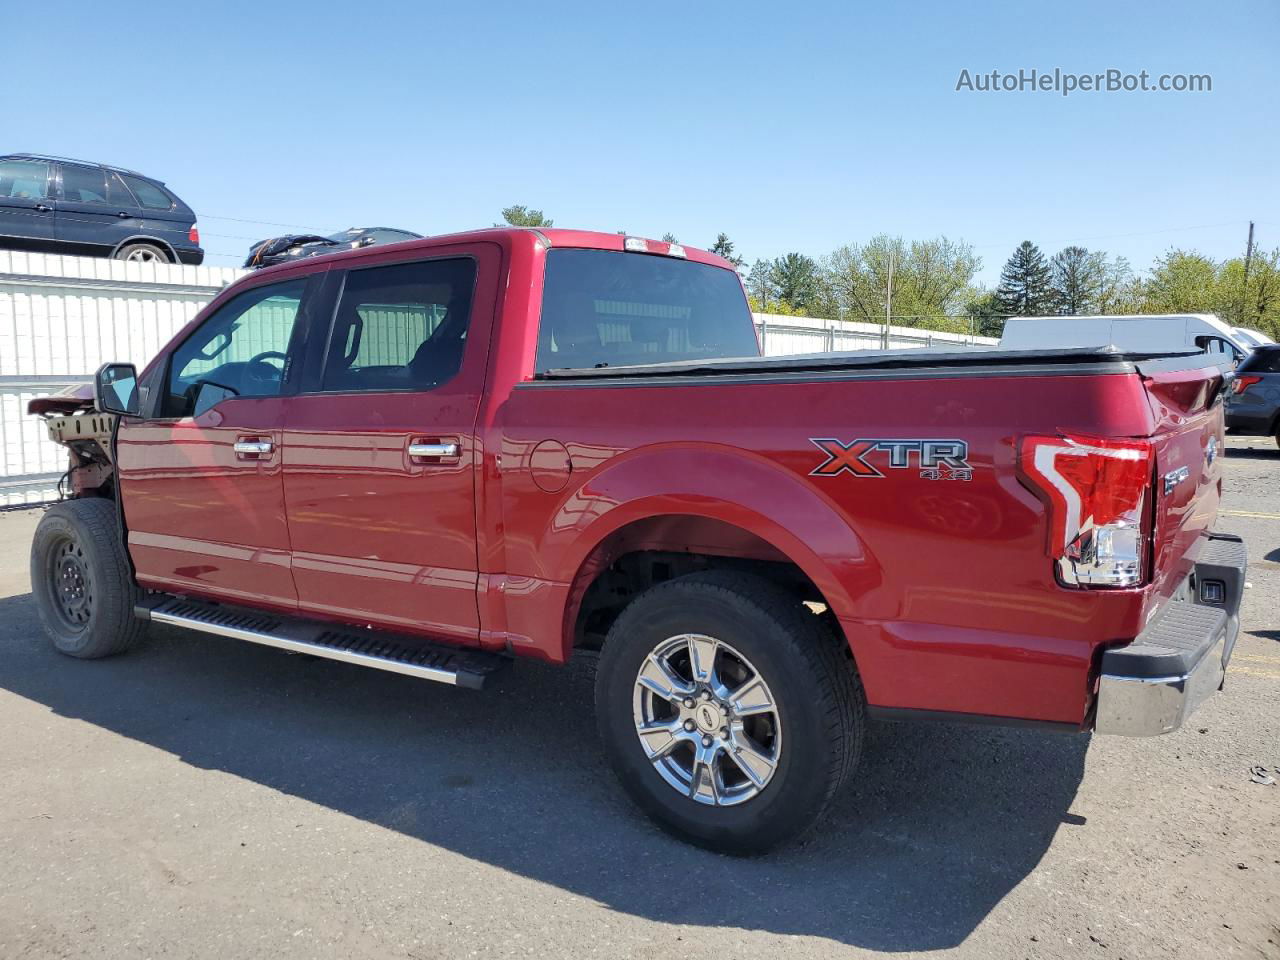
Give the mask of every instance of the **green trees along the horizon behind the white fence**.
MULTIPOLYGON (((517 227, 550 227, 540 210, 503 210, 517 227)), ((620 230, 620 233, 622 233, 620 230)), ((673 234, 663 241, 675 243, 673 234)), ((751 310, 883 323, 998 337, 1010 316, 1217 314, 1233 326, 1280 340, 1280 248, 1213 260, 1170 250, 1138 273, 1123 256, 1068 246, 1046 256, 1032 241, 1014 248, 995 289, 974 282, 982 257, 964 241, 906 241, 878 234, 826 256, 801 252, 750 269, 721 233, 708 246, 744 274, 751 310)))

